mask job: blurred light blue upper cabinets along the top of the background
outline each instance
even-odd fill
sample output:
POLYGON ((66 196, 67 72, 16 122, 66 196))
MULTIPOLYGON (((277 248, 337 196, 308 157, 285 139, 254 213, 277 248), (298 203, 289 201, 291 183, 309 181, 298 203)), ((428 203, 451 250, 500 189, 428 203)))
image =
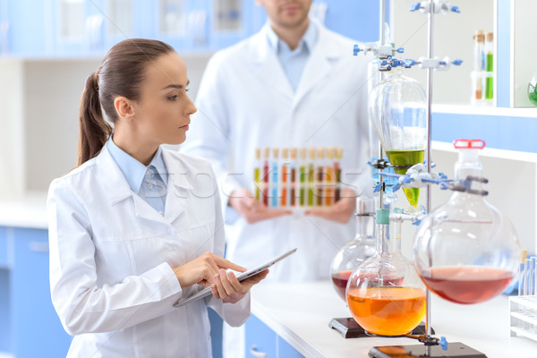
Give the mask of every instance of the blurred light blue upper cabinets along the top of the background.
MULTIPOLYGON (((314 9, 318 4, 328 29, 378 39, 378 2, 315 0, 314 9)), ((179 52, 214 51, 266 21, 251 0, 0 0, 0 53, 103 55, 127 38, 157 38, 179 52)))

